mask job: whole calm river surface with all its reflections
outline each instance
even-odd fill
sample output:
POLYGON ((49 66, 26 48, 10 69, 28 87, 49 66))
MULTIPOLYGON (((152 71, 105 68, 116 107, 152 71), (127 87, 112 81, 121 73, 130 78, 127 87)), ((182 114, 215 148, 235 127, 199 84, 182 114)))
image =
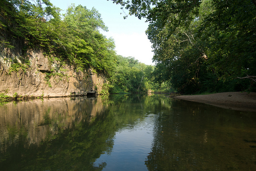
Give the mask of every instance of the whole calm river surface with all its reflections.
POLYGON ((162 95, 0 105, 0 170, 256 170, 256 113, 162 95))

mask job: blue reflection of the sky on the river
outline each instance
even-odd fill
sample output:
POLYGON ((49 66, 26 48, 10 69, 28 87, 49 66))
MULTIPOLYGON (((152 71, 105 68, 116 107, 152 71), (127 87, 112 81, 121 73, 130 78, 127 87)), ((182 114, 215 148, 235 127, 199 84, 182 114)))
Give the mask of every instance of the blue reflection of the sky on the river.
POLYGON ((145 115, 118 129, 111 155, 101 155, 95 163, 107 163, 104 171, 148 170, 144 161, 151 149, 153 128, 154 115, 145 115))

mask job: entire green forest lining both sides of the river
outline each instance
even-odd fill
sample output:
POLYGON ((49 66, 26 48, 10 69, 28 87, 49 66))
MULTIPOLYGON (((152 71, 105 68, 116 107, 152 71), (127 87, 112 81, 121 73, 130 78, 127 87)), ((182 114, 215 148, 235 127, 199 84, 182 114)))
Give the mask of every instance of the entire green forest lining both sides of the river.
MULTIPOLYGON (((108 79, 106 93, 224 91, 256 92, 255 0, 111 0, 149 23, 156 66, 116 54, 101 14, 69 6, 65 14, 50 0, 1 0, 0 45, 40 48, 48 58, 88 67, 108 79), (55 57, 54 57, 55 56, 55 57)), ((125 15, 124 18, 129 17, 125 15)))

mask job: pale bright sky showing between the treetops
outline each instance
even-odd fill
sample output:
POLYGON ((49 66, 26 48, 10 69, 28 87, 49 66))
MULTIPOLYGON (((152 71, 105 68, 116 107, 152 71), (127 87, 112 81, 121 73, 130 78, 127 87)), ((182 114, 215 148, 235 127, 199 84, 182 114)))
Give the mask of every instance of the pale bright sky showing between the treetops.
POLYGON ((121 6, 114 4, 112 0, 50 0, 50 2, 64 10, 64 13, 71 4, 75 6, 81 4, 89 10, 92 7, 96 8, 109 30, 108 32, 101 31, 101 33, 107 38, 114 38, 116 54, 124 57, 132 56, 146 65, 154 65, 152 63, 154 53, 145 33, 148 28, 145 19, 139 20, 135 16, 128 16, 124 20, 128 11, 120 9, 121 6))

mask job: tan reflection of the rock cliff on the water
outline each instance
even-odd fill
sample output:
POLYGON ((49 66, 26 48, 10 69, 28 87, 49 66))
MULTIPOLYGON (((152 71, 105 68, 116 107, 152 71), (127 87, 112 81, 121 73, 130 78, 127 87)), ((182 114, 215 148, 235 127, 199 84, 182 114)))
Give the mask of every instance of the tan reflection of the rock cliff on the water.
MULTIPOLYGON (((81 121, 91 122, 106 106, 100 98, 54 98, 7 103, 0 106, 0 143, 16 143, 20 135, 29 144, 39 144, 62 129, 81 121)), ((62 130, 63 131, 63 130, 62 130)))

